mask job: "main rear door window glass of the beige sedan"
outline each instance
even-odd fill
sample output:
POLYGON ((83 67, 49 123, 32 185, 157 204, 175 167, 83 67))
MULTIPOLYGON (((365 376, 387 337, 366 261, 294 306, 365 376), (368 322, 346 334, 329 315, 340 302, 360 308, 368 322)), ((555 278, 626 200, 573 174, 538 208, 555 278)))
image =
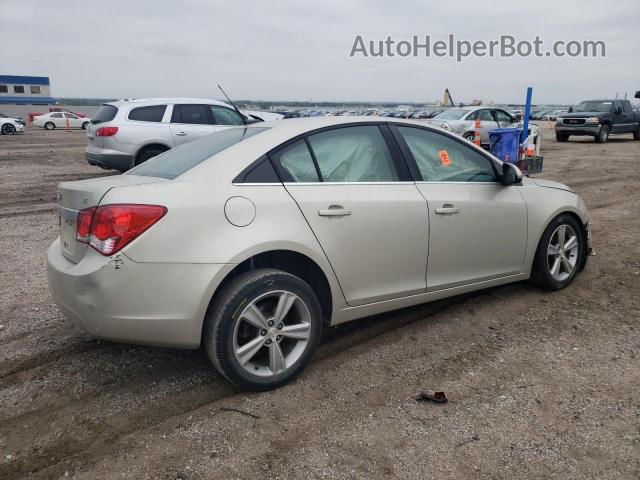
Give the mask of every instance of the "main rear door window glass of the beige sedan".
POLYGON ((325 182, 392 182, 398 172, 377 126, 336 128, 309 136, 325 182))

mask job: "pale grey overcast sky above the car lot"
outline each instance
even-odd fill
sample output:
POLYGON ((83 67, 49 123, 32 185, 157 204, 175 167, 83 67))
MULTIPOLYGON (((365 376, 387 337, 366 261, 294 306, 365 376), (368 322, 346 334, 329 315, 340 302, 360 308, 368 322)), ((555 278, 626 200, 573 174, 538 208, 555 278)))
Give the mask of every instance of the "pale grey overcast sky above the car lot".
POLYGON ((640 1, 0 0, 0 74, 57 97, 534 103, 640 90, 640 1), (606 58, 350 58, 354 38, 604 40, 606 58))

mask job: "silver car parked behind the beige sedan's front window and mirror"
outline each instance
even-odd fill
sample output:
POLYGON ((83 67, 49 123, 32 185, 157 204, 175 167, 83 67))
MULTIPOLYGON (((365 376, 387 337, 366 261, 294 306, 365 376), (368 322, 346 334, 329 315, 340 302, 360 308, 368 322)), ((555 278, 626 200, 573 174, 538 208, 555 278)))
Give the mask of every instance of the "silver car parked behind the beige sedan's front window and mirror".
POLYGON ((476 120, 480 120, 480 143, 484 146, 489 146, 491 130, 521 126, 516 117, 501 108, 493 107, 450 108, 428 120, 428 123, 473 142, 476 120))

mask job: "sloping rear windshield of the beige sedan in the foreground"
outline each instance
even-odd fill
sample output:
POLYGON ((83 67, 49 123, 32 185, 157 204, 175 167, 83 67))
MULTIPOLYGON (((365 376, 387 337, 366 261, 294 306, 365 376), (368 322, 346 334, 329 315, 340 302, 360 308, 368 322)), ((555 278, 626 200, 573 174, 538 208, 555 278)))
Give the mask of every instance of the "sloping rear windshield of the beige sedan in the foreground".
POLYGON ((268 128, 239 127, 212 133, 153 157, 139 167, 129 170, 127 174, 173 180, 209 157, 265 130, 268 128))

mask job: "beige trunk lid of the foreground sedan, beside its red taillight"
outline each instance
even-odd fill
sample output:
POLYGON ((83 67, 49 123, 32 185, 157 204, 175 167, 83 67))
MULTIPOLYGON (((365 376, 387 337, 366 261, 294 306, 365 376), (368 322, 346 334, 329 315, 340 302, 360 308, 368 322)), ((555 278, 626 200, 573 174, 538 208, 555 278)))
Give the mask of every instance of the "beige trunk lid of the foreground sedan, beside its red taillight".
POLYGON ((157 177, 114 175, 58 184, 57 200, 62 254, 68 260, 78 263, 87 251, 87 244, 76 241, 76 223, 80 210, 98 206, 105 193, 112 188, 166 181, 164 178, 157 177))

